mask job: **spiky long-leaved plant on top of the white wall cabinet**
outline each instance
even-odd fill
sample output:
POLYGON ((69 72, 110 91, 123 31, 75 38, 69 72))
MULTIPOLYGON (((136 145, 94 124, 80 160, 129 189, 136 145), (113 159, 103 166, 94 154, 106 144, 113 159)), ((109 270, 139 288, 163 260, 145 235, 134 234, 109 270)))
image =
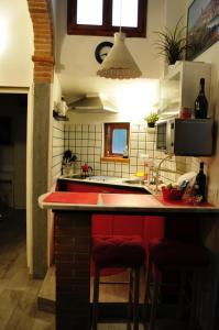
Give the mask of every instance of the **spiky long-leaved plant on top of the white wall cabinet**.
POLYGON ((164 31, 155 31, 158 40, 155 42, 160 55, 165 56, 168 65, 174 65, 176 61, 182 61, 185 57, 187 48, 185 30, 186 26, 180 28, 182 18, 178 20, 174 31, 165 28, 164 31))

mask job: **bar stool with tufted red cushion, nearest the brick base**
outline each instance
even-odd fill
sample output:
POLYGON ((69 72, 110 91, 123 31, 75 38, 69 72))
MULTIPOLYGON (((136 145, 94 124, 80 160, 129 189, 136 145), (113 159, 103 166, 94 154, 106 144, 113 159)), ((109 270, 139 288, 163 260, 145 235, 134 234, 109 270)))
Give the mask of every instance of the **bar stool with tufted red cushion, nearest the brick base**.
POLYGON ((138 330, 140 270, 145 261, 145 250, 142 238, 140 235, 95 235, 92 237, 92 260, 95 264, 92 330, 97 330, 98 322, 99 285, 101 284, 100 273, 103 268, 116 267, 130 268, 130 280, 128 283, 120 282, 114 284, 129 284, 128 327, 130 327, 131 312, 133 312, 133 329, 138 330))

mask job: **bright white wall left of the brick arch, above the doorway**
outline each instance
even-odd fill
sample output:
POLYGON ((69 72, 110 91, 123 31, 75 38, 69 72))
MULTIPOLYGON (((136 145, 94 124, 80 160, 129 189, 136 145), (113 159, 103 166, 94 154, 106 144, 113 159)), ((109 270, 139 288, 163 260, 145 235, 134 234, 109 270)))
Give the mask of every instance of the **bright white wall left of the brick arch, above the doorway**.
POLYGON ((30 86, 33 29, 26 0, 0 1, 0 86, 30 86))

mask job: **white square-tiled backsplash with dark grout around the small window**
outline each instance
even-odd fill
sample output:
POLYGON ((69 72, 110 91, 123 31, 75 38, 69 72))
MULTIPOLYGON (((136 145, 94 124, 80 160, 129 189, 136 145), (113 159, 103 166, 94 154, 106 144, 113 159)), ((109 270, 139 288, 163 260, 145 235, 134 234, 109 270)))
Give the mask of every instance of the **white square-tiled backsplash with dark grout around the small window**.
MULTIPOLYGON (((103 124, 65 124, 64 131, 54 133, 54 139, 64 136, 65 148, 70 147, 77 154, 76 167, 80 169, 83 163, 94 167, 94 175, 109 175, 117 177, 134 176, 136 172, 143 172, 143 158, 141 154, 147 154, 151 161, 157 165, 165 157, 164 152, 156 151, 155 130, 147 130, 143 124, 131 124, 130 127, 130 163, 101 162, 103 124), (55 138, 56 136, 56 138, 55 138)), ((62 141, 62 139, 59 139, 62 141)), ((63 154, 63 146, 54 148, 54 155, 63 154)), ((54 161, 55 162, 55 161, 54 161)), ((61 162, 61 155, 59 161, 61 162)), ((57 166, 58 162, 54 163, 57 166)), ((173 157, 163 163, 162 167, 182 172, 198 170, 199 160, 193 157, 173 157)), ((56 169, 54 169, 56 170, 56 169)), ((175 182, 178 175, 163 172, 161 179, 165 183, 175 182)))

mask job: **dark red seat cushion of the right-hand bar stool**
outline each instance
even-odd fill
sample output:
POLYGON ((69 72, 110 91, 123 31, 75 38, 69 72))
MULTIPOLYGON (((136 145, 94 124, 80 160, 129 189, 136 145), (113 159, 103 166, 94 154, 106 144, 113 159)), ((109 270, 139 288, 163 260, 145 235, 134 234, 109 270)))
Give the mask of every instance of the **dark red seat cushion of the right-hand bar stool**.
POLYGON ((155 266, 197 267, 209 263, 209 253, 205 246, 165 239, 150 242, 149 254, 155 266))

